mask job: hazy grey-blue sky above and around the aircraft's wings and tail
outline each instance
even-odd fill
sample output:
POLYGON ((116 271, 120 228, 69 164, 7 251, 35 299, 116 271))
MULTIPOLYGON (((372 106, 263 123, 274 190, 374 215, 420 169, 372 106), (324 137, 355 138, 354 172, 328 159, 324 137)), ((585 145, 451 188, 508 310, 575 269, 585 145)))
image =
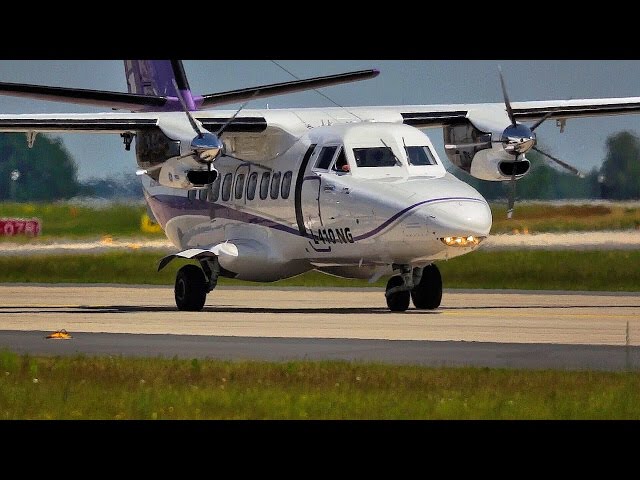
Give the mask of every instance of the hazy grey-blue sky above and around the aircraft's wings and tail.
MULTIPOLYGON (((322 92, 343 106, 476 103, 502 101, 498 65, 502 66, 512 101, 640 96, 640 61, 636 60, 278 60, 298 77, 330 75, 378 68, 372 80, 328 87, 322 92)), ((292 80, 269 60, 185 60, 195 93, 214 93, 292 80)), ((0 61, 0 82, 94 88, 126 92, 122 60, 0 61)), ((250 102, 247 108, 331 107, 316 92, 303 92, 250 102)), ((230 105, 224 108, 231 109, 230 105)), ((0 96, 0 113, 96 112, 82 106, 0 96)), ((607 136, 620 130, 640 134, 640 115, 575 119, 560 133, 547 121, 536 133, 538 145, 587 172, 599 167, 607 136)), ((441 158, 442 130, 426 133, 441 158)), ((80 179, 126 173, 137 166, 117 134, 61 135, 78 164, 80 179)))

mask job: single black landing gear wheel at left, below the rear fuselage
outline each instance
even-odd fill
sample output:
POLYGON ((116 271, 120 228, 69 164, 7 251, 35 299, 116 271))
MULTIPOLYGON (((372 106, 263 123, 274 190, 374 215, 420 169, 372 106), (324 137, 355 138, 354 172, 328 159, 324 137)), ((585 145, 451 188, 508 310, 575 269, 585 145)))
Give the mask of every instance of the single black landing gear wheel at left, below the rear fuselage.
POLYGON ((217 257, 200 260, 200 266, 185 265, 178 270, 174 288, 178 310, 199 312, 204 307, 207 294, 218 284, 220 264, 217 257))

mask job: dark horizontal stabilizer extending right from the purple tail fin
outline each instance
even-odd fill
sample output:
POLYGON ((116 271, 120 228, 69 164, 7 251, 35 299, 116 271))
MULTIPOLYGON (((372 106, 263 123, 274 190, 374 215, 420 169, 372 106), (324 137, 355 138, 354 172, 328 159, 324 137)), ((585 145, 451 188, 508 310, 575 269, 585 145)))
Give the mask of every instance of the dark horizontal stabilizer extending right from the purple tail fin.
POLYGON ((254 100, 257 98, 270 97, 272 95, 282 95, 285 93, 300 92, 303 90, 313 90, 315 88, 328 87, 341 83, 367 80, 369 78, 377 77, 379 74, 379 70, 360 70, 357 72, 339 73, 337 75, 328 75, 325 77, 315 77, 305 80, 274 83, 271 85, 263 85, 260 87, 231 90, 228 92, 212 93, 202 96, 200 106, 201 108, 209 108, 216 105, 224 105, 229 103, 254 100))

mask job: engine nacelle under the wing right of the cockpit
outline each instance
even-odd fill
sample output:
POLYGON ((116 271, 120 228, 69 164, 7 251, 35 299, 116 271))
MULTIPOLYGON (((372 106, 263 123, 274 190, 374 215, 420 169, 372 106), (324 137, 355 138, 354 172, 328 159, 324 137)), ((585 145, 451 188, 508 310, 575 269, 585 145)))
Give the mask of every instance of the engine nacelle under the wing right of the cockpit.
POLYGON ((469 121, 445 126, 443 133, 449 161, 475 178, 498 182, 511 180, 514 170, 516 179, 529 172, 531 164, 524 154, 514 156, 502 139, 492 141, 492 133, 469 121))

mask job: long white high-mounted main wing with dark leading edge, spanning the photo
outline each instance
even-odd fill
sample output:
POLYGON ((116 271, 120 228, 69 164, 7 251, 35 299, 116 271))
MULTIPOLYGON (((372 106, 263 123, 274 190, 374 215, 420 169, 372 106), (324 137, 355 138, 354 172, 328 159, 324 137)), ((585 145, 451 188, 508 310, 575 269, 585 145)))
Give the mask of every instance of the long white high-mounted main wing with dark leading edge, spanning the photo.
MULTIPOLYGON (((513 102, 512 109, 518 121, 544 119, 570 119, 640 113, 640 97, 597 98, 578 100, 544 100, 513 102)), ((505 118, 503 103, 476 103, 451 105, 398 105, 363 107, 328 107, 299 109, 245 109, 234 118, 233 110, 201 110, 194 117, 209 131, 217 131, 229 120, 226 131, 264 132, 267 127, 289 129, 293 123, 307 126, 377 121, 404 123, 417 128, 435 128, 481 118, 491 123, 505 118)), ((65 114, 0 115, 0 132, 24 133, 126 133, 160 128, 165 132, 172 126, 182 130, 187 119, 182 112, 107 112, 65 114)), ((480 122, 482 123, 482 122, 480 122)), ((478 125, 480 127, 480 125, 478 125)))

